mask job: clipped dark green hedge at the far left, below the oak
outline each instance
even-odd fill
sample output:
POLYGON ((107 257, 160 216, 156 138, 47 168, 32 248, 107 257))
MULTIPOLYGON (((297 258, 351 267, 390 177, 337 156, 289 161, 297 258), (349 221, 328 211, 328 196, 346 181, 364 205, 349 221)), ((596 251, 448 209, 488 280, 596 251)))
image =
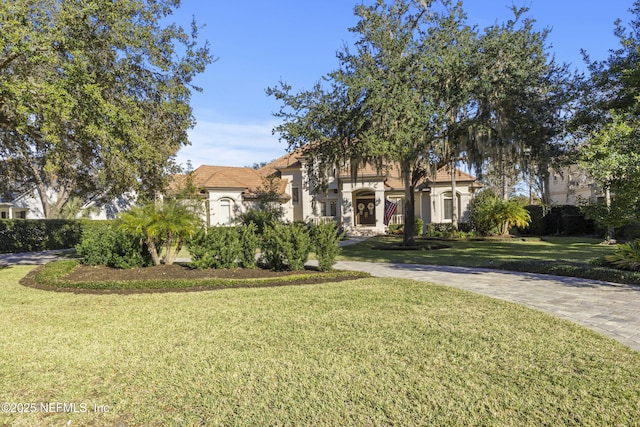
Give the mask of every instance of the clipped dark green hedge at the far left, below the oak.
POLYGON ((0 220, 0 253, 73 248, 80 242, 87 222, 63 219, 0 220))

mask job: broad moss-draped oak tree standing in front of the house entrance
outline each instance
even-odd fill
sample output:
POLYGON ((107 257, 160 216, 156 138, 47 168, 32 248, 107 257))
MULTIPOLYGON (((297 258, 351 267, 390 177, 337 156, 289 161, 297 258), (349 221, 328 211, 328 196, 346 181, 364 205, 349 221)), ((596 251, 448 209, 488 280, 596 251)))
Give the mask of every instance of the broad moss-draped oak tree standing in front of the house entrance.
POLYGON ((536 31, 526 9, 513 12, 481 32, 462 2, 358 5, 354 47, 338 53, 340 68, 324 84, 268 90, 283 104, 274 131, 290 148, 305 147, 316 186, 335 167, 399 165, 411 245, 415 187, 440 167, 466 158, 502 176, 518 166, 547 173, 535 165, 555 152, 568 76, 546 50, 548 31, 536 31))

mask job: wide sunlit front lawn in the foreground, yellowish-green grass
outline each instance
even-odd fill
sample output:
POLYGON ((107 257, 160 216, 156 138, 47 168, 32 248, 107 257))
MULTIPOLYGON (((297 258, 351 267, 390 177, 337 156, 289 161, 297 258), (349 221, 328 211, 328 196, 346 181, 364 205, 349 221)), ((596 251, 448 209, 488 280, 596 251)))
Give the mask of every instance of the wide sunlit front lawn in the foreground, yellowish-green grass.
POLYGON ((84 295, 0 270, 0 425, 633 425, 640 353, 446 287, 84 295))

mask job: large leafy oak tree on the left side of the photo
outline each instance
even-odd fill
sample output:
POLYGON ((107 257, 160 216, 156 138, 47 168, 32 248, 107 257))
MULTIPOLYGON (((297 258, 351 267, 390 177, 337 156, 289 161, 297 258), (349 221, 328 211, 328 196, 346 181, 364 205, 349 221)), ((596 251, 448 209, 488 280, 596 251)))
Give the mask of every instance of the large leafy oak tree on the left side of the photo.
POLYGON ((162 189, 188 143, 195 75, 213 61, 179 0, 0 3, 0 190, 47 218, 76 198, 162 189))

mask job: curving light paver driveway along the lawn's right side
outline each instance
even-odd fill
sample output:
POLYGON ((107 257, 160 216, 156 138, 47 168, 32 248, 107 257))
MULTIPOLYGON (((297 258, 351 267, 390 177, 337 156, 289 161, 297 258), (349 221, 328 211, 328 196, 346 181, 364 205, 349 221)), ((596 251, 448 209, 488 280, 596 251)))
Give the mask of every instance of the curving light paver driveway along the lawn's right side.
POLYGON ((341 270, 452 286, 572 320, 640 351, 640 286, 497 270, 340 261, 341 270))

